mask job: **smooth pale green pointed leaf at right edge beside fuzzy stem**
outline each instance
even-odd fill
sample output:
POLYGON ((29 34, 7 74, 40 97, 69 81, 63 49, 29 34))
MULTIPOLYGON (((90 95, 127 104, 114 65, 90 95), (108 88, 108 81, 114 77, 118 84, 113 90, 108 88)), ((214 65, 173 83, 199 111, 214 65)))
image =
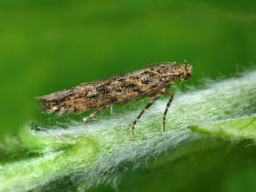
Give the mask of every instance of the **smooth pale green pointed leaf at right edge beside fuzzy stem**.
POLYGON ((188 128, 193 132, 215 136, 255 138, 256 115, 221 121, 210 125, 190 125, 188 128))

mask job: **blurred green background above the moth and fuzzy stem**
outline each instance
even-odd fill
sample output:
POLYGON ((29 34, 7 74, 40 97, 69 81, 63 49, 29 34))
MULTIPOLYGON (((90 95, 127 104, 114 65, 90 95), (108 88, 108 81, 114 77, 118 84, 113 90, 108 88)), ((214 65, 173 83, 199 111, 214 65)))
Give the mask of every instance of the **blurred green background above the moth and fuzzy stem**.
POLYGON ((159 61, 192 80, 256 60, 255 1, 0 1, 0 135, 43 121, 35 96, 159 61))

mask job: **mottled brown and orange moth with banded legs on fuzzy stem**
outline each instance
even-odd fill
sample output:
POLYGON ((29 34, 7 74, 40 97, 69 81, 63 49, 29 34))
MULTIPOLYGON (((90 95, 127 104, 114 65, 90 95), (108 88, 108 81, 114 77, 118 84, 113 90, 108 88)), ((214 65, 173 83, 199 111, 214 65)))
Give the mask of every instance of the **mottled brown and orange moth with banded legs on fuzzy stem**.
POLYGON ((87 82, 53 92, 46 96, 39 96, 42 112, 62 116, 69 113, 81 114, 87 110, 96 109, 87 121, 95 117, 102 110, 111 108, 117 103, 126 104, 144 97, 153 99, 144 107, 133 122, 132 133, 135 137, 134 126, 144 111, 149 109, 162 95, 170 96, 163 114, 163 131, 166 128, 166 114, 170 103, 174 99, 174 92, 169 91, 174 82, 183 82, 192 76, 192 66, 185 60, 184 63, 160 62, 137 67, 97 82, 87 82))

